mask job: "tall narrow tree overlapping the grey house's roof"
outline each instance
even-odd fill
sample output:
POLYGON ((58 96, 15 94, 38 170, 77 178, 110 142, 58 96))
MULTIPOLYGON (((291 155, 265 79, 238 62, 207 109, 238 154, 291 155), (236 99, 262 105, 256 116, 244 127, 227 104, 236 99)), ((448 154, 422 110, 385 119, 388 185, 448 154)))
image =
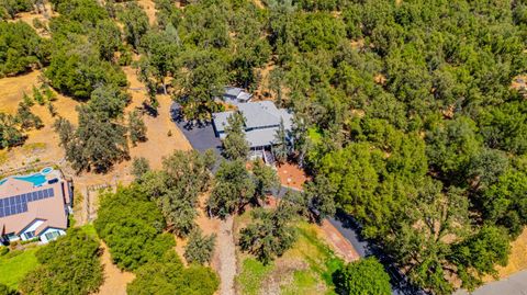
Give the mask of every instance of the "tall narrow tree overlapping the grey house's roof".
POLYGON ((249 156, 249 144, 245 139, 245 118, 240 113, 233 113, 227 118, 223 154, 229 160, 245 160, 249 156))

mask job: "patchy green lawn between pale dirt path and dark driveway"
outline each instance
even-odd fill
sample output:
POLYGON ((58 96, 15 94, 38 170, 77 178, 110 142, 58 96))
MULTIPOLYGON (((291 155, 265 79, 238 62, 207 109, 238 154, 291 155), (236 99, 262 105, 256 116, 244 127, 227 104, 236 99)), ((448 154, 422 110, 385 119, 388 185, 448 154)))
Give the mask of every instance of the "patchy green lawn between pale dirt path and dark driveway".
MULTIPOLYGON (((237 222, 247 222, 244 214, 237 222)), ((344 263, 318 237, 316 226, 300 223, 299 238, 283 257, 264 265, 254 257, 240 253, 240 271, 236 283, 240 294, 257 295, 268 291, 268 282, 277 282, 281 294, 335 294, 332 274, 344 263)))

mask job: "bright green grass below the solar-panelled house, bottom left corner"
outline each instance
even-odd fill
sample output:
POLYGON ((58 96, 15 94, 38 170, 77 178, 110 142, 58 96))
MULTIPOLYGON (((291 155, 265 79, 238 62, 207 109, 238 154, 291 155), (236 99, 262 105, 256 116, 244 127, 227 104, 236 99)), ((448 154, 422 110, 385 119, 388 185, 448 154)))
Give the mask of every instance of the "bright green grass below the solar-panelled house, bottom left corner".
POLYGON ((36 266, 36 251, 38 248, 15 250, 0 257, 0 283, 18 290, 20 281, 36 266))

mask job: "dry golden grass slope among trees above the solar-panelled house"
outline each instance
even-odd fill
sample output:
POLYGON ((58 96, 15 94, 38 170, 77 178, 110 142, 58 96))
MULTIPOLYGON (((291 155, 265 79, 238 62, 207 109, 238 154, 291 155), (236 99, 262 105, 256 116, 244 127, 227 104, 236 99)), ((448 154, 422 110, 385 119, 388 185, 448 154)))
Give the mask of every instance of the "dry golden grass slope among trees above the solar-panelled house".
MULTIPOLYGON (((132 68, 124 68, 130 84, 132 88, 143 88, 144 84, 137 79, 135 70, 132 68)), ((14 114, 19 102, 22 101, 23 93, 31 94, 32 87, 40 86, 38 75, 41 71, 32 71, 27 75, 0 79, 0 111, 14 114)), ((126 107, 126 112, 141 106, 146 100, 146 92, 144 90, 130 91, 132 94, 132 103, 126 107)), ((79 102, 57 94, 57 101, 54 102, 58 115, 77 124, 76 106, 79 102)), ((161 168, 162 157, 169 156, 173 150, 190 150, 191 146, 183 134, 170 120, 171 99, 168 95, 159 95, 159 115, 156 117, 145 116, 144 121, 147 126, 146 143, 139 143, 137 146, 130 149, 130 156, 145 157, 149 160, 152 168, 161 168), (171 131, 172 136, 168 136, 168 131, 171 131)), ((56 117, 52 117, 47 106, 34 105, 32 111, 38 115, 44 127, 38 131, 30 131, 27 133, 27 140, 24 146, 11 149, 8 152, 8 160, 0 164, 0 169, 9 170, 20 168, 29 162, 35 160, 53 161, 65 164, 64 150, 59 147, 58 136, 53 131, 53 122, 56 117), (38 147, 35 149, 35 147, 38 147)), ((5 152, 5 151, 4 151, 5 152)), ((128 183, 133 180, 130 174, 132 161, 123 161, 114 167, 108 174, 82 173, 76 175, 74 181, 78 188, 85 185, 102 184, 102 183, 128 183)))

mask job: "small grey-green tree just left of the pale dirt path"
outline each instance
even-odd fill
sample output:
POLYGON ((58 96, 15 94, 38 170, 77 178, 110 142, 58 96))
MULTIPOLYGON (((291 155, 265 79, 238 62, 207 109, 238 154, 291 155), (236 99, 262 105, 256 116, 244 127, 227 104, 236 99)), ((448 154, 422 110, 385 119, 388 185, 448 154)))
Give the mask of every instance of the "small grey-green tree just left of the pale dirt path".
POLYGON ((189 235, 189 242, 184 247, 184 259, 189 263, 205 264, 211 262, 216 235, 203 236, 200 228, 195 228, 189 235))

